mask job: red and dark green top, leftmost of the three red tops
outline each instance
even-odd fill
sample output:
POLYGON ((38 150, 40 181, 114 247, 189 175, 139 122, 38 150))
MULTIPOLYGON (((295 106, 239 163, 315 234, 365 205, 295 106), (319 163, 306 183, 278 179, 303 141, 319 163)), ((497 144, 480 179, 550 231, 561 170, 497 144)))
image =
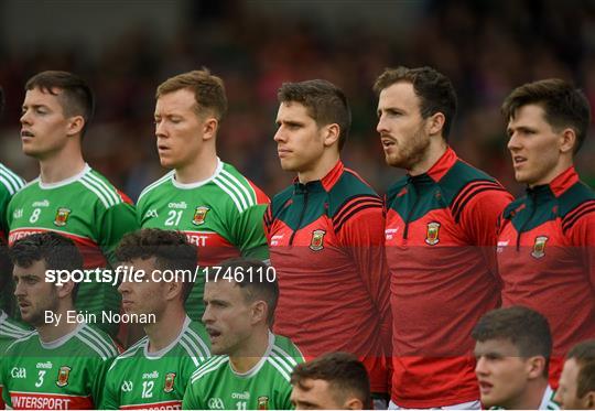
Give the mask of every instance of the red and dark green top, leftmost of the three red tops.
POLYGON ((320 181, 274 196, 264 221, 279 280, 274 332, 306 357, 358 356, 387 392, 389 278, 382 201, 339 161, 320 181))

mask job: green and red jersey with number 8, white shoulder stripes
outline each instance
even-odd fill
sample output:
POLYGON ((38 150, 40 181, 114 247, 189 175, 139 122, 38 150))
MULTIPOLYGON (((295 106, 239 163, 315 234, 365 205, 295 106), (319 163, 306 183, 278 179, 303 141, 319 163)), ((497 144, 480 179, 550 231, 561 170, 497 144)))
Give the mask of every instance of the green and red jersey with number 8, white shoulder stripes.
MULTIPOLYGON (((87 269, 116 263, 118 242, 138 229, 130 199, 87 164, 62 182, 45 184, 36 179, 26 184, 9 204, 8 223, 9 245, 31 234, 56 231, 76 244, 87 269)), ((109 283, 83 282, 75 304, 100 317, 104 310, 119 312, 120 295, 109 283)))

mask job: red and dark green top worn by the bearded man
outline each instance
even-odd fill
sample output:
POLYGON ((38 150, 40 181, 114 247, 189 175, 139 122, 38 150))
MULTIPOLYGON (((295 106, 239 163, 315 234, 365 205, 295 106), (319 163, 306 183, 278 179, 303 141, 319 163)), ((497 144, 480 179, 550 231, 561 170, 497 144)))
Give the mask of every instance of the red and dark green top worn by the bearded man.
POLYGON ((511 195, 452 149, 387 193, 392 401, 434 408, 479 398, 470 332, 499 305, 496 221, 511 195))

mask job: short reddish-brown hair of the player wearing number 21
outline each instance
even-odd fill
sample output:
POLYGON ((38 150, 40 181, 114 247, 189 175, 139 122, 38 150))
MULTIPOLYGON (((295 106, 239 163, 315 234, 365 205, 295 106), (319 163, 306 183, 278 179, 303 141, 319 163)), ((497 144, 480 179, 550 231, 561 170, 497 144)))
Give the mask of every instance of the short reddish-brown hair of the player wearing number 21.
POLYGON ((227 96, 224 82, 220 77, 210 74, 206 67, 167 78, 159 85, 155 99, 184 88, 194 93, 198 115, 202 110, 209 110, 219 121, 225 117, 227 96))

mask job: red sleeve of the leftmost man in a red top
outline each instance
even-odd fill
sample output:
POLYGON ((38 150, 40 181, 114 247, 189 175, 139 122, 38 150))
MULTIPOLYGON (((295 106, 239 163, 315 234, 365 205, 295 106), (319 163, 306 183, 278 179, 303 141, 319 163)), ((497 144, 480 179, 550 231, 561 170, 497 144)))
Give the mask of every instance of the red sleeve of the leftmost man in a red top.
POLYGON ((392 314, 382 201, 371 195, 351 198, 335 215, 333 223, 339 242, 351 253, 361 282, 378 311, 385 354, 390 356, 392 314))

